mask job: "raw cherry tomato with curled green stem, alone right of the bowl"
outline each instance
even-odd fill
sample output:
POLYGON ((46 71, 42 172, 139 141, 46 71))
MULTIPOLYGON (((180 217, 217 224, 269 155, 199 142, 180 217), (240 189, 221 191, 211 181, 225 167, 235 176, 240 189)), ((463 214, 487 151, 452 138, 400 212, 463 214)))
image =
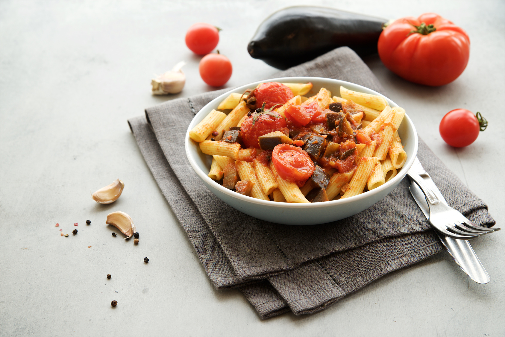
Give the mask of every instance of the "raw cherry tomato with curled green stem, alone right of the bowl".
POLYGON ((474 115, 466 109, 455 109, 443 116, 438 129, 448 145, 463 148, 473 143, 479 130, 484 131, 486 127, 487 121, 479 112, 474 115))

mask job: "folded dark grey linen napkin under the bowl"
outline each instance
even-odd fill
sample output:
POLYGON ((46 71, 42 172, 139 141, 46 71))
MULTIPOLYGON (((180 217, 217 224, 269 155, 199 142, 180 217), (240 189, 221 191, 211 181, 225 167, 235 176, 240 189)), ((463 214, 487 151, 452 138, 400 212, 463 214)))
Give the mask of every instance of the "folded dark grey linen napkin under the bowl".
MULTIPOLYGON (((337 78, 384 91, 346 47, 274 76, 295 75, 337 78)), ((407 178, 367 210, 316 226, 270 223, 219 200, 192 170, 181 140, 194 114, 226 90, 168 101, 146 109, 146 118, 128 121, 149 169, 217 288, 239 286, 262 318, 289 310, 312 313, 441 250, 410 195, 407 178)), ((494 224, 487 206, 422 141, 418 157, 449 205, 476 223, 494 224)))

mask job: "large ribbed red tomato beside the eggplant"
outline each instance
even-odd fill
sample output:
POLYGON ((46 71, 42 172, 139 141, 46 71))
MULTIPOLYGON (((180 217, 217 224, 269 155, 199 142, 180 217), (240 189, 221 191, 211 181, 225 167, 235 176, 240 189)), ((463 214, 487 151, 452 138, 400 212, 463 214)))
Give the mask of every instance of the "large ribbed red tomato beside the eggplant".
POLYGON ((465 70, 470 38, 449 20, 434 13, 394 21, 377 45, 384 65, 400 77, 431 86, 452 82, 465 70))

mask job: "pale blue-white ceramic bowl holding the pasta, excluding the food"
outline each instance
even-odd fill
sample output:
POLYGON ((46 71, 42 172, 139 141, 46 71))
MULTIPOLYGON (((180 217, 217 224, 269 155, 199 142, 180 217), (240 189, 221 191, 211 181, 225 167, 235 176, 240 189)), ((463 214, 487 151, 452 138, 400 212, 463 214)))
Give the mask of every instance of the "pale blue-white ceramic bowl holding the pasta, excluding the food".
MULTIPOLYGON (((316 94, 322 87, 330 90, 333 95, 338 95, 340 93, 340 85, 343 85, 350 90, 379 94, 376 91, 358 84, 322 77, 273 78, 243 85, 239 88, 223 93, 196 114, 189 124, 185 139, 186 155, 189 163, 196 174, 200 177, 201 181, 209 187, 216 197, 240 212, 259 219, 289 225, 314 225, 340 220, 367 209, 385 197, 397 184, 399 184, 401 179, 405 177, 407 171, 414 162, 418 147, 417 132, 412 120, 409 116, 407 116, 407 114, 398 128, 398 134, 400 135, 401 142, 404 146, 403 149, 407 153, 407 162, 393 179, 380 187, 374 188, 371 191, 367 191, 355 197, 310 204, 278 203, 240 195, 209 178, 207 174, 211 168, 212 156, 201 153, 198 143, 189 138, 189 131, 201 120, 203 120, 204 117, 212 111, 212 109, 217 109, 219 103, 221 103, 221 101, 223 101, 231 92, 243 93, 245 89, 255 88, 259 83, 273 81, 285 83, 312 82, 314 87, 307 95, 316 94)), ((388 98, 386 98, 386 100, 391 107, 397 106, 388 98)), ((212 201, 209 202, 212 203, 212 201)))

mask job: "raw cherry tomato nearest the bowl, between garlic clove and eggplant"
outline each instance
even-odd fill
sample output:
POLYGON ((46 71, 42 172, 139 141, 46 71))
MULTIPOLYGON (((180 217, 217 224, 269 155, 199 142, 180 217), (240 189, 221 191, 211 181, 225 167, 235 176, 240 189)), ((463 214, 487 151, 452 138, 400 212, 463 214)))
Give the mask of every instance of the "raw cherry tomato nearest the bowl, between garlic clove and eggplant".
POLYGON ((222 54, 207 54, 200 60, 200 77, 211 86, 224 85, 231 77, 230 60, 222 54))

